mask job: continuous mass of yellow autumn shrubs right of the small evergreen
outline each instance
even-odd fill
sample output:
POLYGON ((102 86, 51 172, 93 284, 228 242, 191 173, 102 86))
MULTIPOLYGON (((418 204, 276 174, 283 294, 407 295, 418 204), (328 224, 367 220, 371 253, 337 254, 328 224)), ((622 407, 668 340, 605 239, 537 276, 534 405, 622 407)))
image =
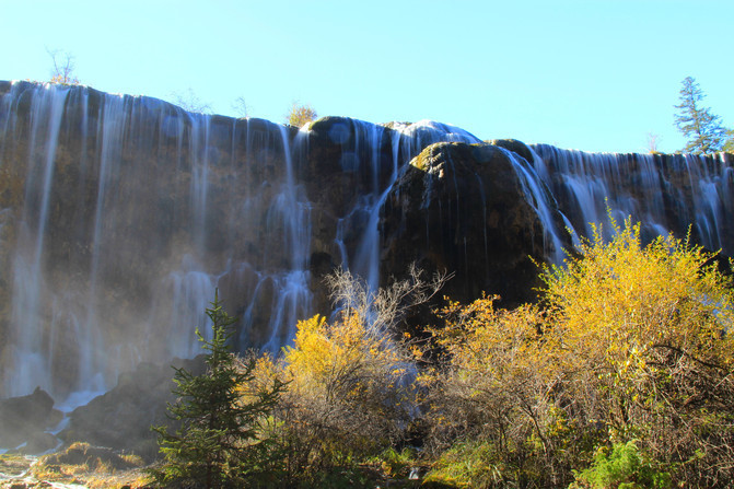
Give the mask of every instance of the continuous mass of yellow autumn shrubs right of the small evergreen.
POLYGON ((539 303, 446 300, 412 335, 407 311, 445 277, 373 291, 337 271, 331 317, 238 386, 244 406, 279 386, 247 442, 267 441, 266 487, 374 487, 406 466, 434 487, 729 487, 731 280, 687 240, 609 225, 540 267, 539 303))

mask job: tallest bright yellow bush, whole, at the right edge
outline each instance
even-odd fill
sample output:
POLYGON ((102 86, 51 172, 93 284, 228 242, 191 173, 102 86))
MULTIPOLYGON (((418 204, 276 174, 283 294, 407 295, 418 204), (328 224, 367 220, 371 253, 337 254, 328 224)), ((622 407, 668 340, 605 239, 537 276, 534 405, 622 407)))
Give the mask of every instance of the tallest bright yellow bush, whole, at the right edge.
POLYGON ((688 241, 643 246, 639 224, 611 225, 611 242, 595 231, 582 258, 546 269, 549 354, 610 442, 639 439, 676 479, 723 487, 734 476, 731 280, 688 241))

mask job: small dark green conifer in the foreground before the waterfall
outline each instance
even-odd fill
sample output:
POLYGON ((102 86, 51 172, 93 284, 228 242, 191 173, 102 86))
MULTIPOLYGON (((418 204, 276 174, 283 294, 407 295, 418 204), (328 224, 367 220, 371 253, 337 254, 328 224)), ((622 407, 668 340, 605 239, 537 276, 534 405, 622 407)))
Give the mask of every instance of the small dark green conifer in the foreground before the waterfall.
POLYGON ((163 464, 151 470, 161 485, 194 482, 197 487, 231 488, 257 485, 277 473, 271 465, 269 441, 263 438, 260 422, 269 415, 283 389, 281 383, 247 393, 255 360, 243 366, 230 351, 231 325, 236 321, 222 308, 218 294, 207 310, 211 319, 211 340, 197 329, 206 351, 207 370, 194 375, 174 368, 168 417, 180 422, 175 433, 153 427, 159 434, 163 464), (243 392, 244 391, 244 392, 243 392))

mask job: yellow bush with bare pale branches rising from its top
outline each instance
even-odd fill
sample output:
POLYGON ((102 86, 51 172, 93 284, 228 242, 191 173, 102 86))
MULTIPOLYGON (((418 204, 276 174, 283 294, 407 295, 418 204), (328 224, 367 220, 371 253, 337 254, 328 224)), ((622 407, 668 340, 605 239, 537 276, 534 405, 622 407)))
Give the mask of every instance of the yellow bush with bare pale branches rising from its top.
POLYGON ((410 278, 372 291, 338 270, 328 279, 334 318, 299 322, 293 346, 280 359, 258 360, 259 382, 275 377, 287 384, 270 429, 291 485, 353 474, 360 463, 403 442, 416 409, 416 368, 410 339, 397 333, 397 324, 444 280, 423 281, 412 269, 410 278))

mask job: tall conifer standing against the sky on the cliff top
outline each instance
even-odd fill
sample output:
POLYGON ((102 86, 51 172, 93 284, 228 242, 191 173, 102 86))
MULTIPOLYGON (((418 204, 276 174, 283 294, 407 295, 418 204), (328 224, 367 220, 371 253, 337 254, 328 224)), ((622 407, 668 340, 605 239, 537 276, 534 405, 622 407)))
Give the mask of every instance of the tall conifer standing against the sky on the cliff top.
POLYGON ((675 108, 676 127, 688 138, 684 153, 713 153, 721 151, 726 139, 726 129, 721 117, 701 106, 706 95, 692 77, 686 77, 680 89, 680 104, 675 108))

